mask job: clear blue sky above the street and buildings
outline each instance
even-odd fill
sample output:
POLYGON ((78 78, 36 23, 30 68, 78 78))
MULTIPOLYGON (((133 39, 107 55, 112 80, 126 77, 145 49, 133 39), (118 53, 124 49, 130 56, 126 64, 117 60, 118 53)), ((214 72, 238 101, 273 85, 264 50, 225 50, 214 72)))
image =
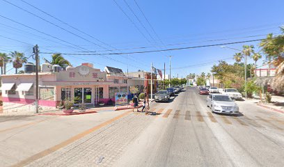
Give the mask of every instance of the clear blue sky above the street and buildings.
MULTIPOLYGON (((65 41, 54 39, 0 17, 1 52, 8 53, 9 51, 17 50, 29 56, 33 45, 38 44, 41 52, 71 53, 72 55, 66 55, 65 58, 68 58, 74 66, 89 62, 100 69, 103 69, 105 65, 109 65, 120 67, 123 71, 126 71, 128 66, 129 72, 131 72, 139 69, 150 71, 150 63, 153 63, 157 68, 164 67, 164 63, 166 63, 166 73, 168 73, 167 56, 172 55, 172 76, 175 77, 178 74, 179 77, 185 77, 190 72, 198 74, 200 72, 210 72, 212 65, 217 60, 232 58, 235 51, 220 47, 203 47, 178 51, 111 56, 75 54, 84 54, 84 52, 79 51, 97 51, 97 54, 111 53, 111 51, 106 50, 113 48, 120 49, 112 51, 117 53, 254 40, 265 38, 267 33, 280 33, 278 27, 284 24, 284 1, 281 0, 136 0, 157 35, 152 31, 134 0, 125 1, 143 25, 129 10, 124 0, 116 0, 116 2, 132 21, 129 21, 113 0, 24 0, 88 34, 85 35, 41 13, 23 1, 7 1, 24 8, 24 10, 34 15, 47 19, 49 22, 61 26, 63 29, 79 35, 81 38, 0 0, 1 16, 8 17, 65 41), (145 29, 143 26, 145 26, 145 29), (93 38, 90 38, 90 36, 93 38), (72 44, 72 47, 70 47, 70 44, 72 44), (137 47, 145 48, 133 49, 137 47)), ((228 47, 241 49, 242 45, 244 44, 228 45, 228 47)), ((246 45, 257 46, 258 42, 249 42, 246 45)), ((40 56, 47 59, 51 57, 49 54, 40 54, 40 56)), ((30 59, 30 61, 33 61, 33 59, 30 59)), ((229 63, 233 62, 232 59, 226 61, 229 63)), ((262 61, 258 64, 261 65, 262 61)), ((12 65, 9 65, 8 70, 11 67, 12 65)), ((11 70, 10 72, 14 71, 11 70)))

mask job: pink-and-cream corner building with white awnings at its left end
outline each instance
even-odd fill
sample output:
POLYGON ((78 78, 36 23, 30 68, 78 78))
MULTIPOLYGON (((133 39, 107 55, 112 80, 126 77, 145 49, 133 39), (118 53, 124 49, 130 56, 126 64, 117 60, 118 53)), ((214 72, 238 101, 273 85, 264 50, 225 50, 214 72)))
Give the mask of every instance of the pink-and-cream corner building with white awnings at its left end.
MULTIPOLYGON (((127 92, 127 79, 122 73, 105 72, 90 63, 67 67, 58 72, 39 73, 40 109, 54 110, 61 100, 79 97, 85 104, 114 101, 114 93, 127 92)), ((36 74, 6 74, 1 76, 3 112, 34 112, 36 74)), ((79 102, 77 102, 79 104, 79 102)))

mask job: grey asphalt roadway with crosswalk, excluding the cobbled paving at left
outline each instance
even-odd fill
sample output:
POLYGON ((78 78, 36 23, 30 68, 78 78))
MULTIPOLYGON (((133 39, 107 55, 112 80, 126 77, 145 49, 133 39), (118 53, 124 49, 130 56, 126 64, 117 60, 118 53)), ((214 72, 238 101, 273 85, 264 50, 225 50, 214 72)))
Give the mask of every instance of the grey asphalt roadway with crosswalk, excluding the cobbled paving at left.
POLYGON ((187 88, 157 104, 161 116, 114 166, 284 166, 283 114, 237 104, 239 116, 211 113, 206 96, 187 88))

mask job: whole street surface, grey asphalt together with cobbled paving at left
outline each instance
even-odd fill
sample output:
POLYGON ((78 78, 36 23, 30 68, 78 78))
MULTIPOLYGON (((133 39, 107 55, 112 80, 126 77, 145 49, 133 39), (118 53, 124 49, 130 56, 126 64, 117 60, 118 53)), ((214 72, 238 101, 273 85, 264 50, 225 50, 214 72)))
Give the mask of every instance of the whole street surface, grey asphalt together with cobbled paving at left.
POLYGON ((154 102, 151 116, 1 119, 0 166, 283 166, 283 113, 237 104, 239 116, 211 113, 206 95, 184 88, 168 103, 154 102))

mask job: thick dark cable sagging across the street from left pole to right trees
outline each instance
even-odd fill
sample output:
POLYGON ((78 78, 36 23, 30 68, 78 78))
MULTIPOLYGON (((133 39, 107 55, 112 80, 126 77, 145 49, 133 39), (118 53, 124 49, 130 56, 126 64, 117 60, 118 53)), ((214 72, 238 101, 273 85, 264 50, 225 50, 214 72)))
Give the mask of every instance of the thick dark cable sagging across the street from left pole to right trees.
MULTIPOLYGON (((256 41, 265 40, 265 39, 266 38, 257 39, 257 40, 244 40, 244 41, 238 41, 238 42, 227 42, 227 43, 220 43, 220 44, 214 44, 214 45, 200 45, 200 46, 195 46, 195 47, 179 47, 179 48, 151 50, 151 51, 133 51, 133 52, 125 52, 125 53, 117 53, 117 54, 143 54, 143 53, 152 53, 152 52, 157 52, 157 51, 168 51, 168 50, 173 51, 173 50, 182 50, 182 49, 195 49, 195 48, 201 48, 201 47, 216 47, 216 46, 222 46, 222 45, 256 42, 256 41)), ((42 54, 51 54, 51 53, 42 52, 42 54)), ((71 53, 61 53, 61 54, 71 54, 71 53)), ((95 55, 95 54, 73 54, 73 55, 95 55)), ((113 55, 113 54, 106 53, 106 54, 101 54, 101 55, 113 55)))

